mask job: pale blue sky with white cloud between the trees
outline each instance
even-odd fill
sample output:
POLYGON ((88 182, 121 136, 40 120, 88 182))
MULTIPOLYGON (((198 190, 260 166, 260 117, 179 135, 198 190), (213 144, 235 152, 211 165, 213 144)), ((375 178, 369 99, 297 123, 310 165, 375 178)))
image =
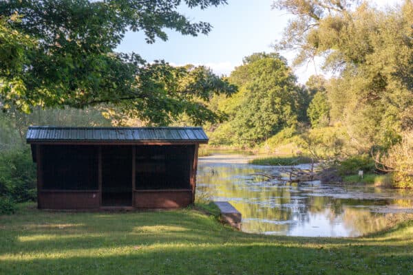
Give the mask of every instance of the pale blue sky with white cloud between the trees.
MULTIPOLYGON (((395 5, 401 0, 372 1, 383 7, 395 5)), ((171 65, 206 65, 215 74, 229 75, 235 66, 242 65, 242 58, 255 52, 273 52, 273 45, 282 38, 288 20, 293 19, 285 11, 271 9, 273 0, 228 0, 228 5, 206 10, 180 8, 180 12, 192 22, 206 21, 213 25, 208 35, 183 36, 167 30, 168 41, 158 39, 147 44, 142 32, 127 32, 118 52, 136 52, 149 62, 165 60, 171 65)), ((291 63, 293 52, 282 52, 291 63)), ((299 83, 306 83, 312 74, 320 73, 316 65, 295 68, 299 83)))

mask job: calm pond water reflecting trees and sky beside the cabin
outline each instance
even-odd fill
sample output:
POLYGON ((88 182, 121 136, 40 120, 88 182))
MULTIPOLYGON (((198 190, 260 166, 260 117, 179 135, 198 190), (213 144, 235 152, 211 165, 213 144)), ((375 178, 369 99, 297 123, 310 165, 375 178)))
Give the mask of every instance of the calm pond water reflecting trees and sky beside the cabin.
POLYGON ((233 204, 242 213, 245 232, 360 236, 413 213, 411 190, 266 181, 254 174, 274 173, 279 167, 251 165, 248 159, 251 156, 233 153, 200 157, 197 175, 197 195, 233 204))

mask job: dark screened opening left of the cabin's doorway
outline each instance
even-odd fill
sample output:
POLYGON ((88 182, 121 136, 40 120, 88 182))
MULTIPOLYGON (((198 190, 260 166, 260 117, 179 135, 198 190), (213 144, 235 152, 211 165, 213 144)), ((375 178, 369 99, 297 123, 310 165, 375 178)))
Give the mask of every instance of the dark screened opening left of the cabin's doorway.
POLYGON ((44 145, 44 190, 98 190, 97 146, 44 145))

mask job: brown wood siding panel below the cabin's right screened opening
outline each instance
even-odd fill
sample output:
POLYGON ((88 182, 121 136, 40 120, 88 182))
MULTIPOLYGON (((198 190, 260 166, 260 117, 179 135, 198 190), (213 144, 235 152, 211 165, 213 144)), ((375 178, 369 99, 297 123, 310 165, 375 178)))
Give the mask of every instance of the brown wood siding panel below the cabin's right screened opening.
POLYGON ((192 190, 135 190, 136 208, 181 208, 191 204, 192 190))

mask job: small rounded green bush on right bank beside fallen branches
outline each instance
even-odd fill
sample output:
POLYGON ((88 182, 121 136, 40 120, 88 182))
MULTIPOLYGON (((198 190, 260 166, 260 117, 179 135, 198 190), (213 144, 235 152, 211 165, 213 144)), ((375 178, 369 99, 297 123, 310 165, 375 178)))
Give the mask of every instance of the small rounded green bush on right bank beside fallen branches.
POLYGON ((359 170, 363 170, 364 173, 372 173, 375 168, 374 159, 367 154, 353 155, 339 162, 340 175, 354 175, 359 170))

